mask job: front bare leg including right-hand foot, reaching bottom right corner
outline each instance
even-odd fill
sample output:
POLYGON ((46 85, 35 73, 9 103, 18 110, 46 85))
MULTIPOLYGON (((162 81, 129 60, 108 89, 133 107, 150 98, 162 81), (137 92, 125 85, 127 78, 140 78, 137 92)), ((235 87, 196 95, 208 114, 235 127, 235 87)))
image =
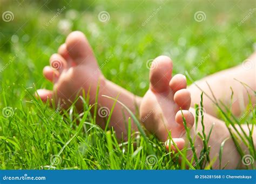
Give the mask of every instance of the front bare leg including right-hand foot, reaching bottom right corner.
MULTIPOLYGON (((195 110, 193 108, 189 109, 191 97, 189 91, 186 89, 186 79, 180 74, 172 77, 172 61, 167 56, 159 56, 153 62, 153 67, 150 69, 150 89, 143 97, 142 104, 140 105, 140 118, 146 129, 162 141, 165 141, 169 137, 169 131, 171 131, 174 143, 181 150, 184 148, 185 143, 190 146, 183 125, 184 117, 187 126, 191 128, 190 135, 192 140, 196 138, 194 147, 199 158, 200 151, 203 148, 203 141, 198 136, 198 132, 202 134, 203 125, 201 125, 200 116, 197 129, 194 124, 195 110), (182 113, 180 108, 182 109, 182 113)), ((213 168, 219 168, 220 164, 221 168, 228 164, 225 167, 226 169, 241 168, 241 157, 225 123, 220 119, 204 113, 204 126, 206 138, 210 135, 212 129, 208 146, 211 146, 210 159, 217 159, 213 164, 213 168), (220 163, 220 146, 226 138, 228 139, 225 142, 220 163)), ((247 126, 243 126, 242 128, 248 135, 249 130, 247 126)), ((254 144, 256 143, 255 135, 254 132, 254 144)), ((247 146, 242 144, 239 137, 237 141, 242 150, 247 154, 247 146)), ((166 144, 166 146, 168 148, 169 144, 166 144)), ((171 144, 171 149, 176 150, 173 144, 171 144)), ((187 154, 188 159, 191 159, 191 156, 191 151, 189 151, 187 154)))

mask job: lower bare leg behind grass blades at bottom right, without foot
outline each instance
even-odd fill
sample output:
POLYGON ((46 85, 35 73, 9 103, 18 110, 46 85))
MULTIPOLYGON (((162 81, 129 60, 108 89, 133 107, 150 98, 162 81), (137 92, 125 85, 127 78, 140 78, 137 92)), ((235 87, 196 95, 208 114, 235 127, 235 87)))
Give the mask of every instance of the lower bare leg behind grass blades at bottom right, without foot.
MULTIPOLYGON (((190 111, 192 112, 193 115, 195 115, 195 111, 193 108, 190 108, 190 111)), ((199 136, 197 135, 198 132, 202 132, 202 126, 200 123, 201 119, 199 117, 199 123, 198 123, 198 128, 196 130, 195 125, 191 129, 191 135, 192 139, 194 136, 196 136, 196 141, 194 143, 196 147, 196 152, 197 152, 197 157, 200 158, 200 151, 203 148, 203 141, 199 136)), ((245 165, 242 164, 242 159, 237 151, 237 147, 234 144, 234 141, 232 140, 230 136, 230 132, 228 131, 225 123, 221 121, 220 119, 217 119, 211 115, 204 114, 204 125, 205 125, 205 134, 206 137, 208 137, 210 130, 212 128, 211 136, 208 141, 208 146, 211 146, 211 151, 210 151, 210 159, 213 160, 216 158, 216 161, 213 164, 214 169, 219 169, 223 168, 224 166, 225 169, 235 169, 235 168, 245 168, 245 165), (221 143, 227 138, 224 144, 224 149, 223 149, 223 154, 222 154, 222 160, 221 163, 219 162, 219 151, 220 151, 220 146, 221 143), (221 167, 220 167, 221 166, 221 167)), ((231 126, 230 126, 231 127, 231 126)), ((232 128, 231 128, 232 129, 232 128)), ((241 133, 240 128, 237 126, 238 131, 241 133)), ((247 136, 249 135, 249 130, 247 125, 242 125, 242 129, 246 132, 247 136)), ((233 130, 233 129, 232 129, 233 130)), ((234 132, 234 131, 233 131, 234 132)), ((235 133, 237 135, 237 133, 235 133)), ((183 136, 183 139, 186 140, 186 135, 183 136)), ((242 140, 238 137, 238 143, 244 151, 245 154, 249 154, 248 152, 248 147, 242 143, 242 140)), ((254 141, 254 147, 256 147, 256 132, 254 131, 253 133, 253 141, 254 141)), ((187 145, 189 146, 190 144, 188 143, 188 140, 186 140, 187 145)), ((208 153, 206 153, 208 154, 208 153)), ((206 156, 206 155, 205 155, 206 156)), ((253 157, 253 155, 251 155, 253 157)), ((188 153, 188 158, 191 159, 192 157, 192 152, 188 153)), ((197 164, 197 163, 195 163, 197 164)), ((251 167, 251 166, 249 166, 251 167)))

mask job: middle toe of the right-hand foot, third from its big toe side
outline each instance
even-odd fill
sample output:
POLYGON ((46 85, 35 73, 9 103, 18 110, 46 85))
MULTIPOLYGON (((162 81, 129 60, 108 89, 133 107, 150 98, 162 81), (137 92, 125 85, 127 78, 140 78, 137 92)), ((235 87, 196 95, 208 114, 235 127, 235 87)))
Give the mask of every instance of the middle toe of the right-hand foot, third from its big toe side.
POLYGON ((173 97, 174 102, 177 103, 178 107, 184 110, 188 110, 191 104, 190 91, 187 89, 178 90, 173 97))

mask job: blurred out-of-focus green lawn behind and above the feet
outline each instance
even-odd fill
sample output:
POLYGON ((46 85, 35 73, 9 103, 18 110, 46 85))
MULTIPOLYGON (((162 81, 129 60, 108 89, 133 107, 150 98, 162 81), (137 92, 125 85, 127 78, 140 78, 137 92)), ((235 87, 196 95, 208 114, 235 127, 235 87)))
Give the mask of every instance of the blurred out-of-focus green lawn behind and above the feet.
POLYGON ((147 60, 158 55, 172 58, 174 73, 193 71, 200 79, 241 63, 255 46, 255 1, 0 2, 0 67, 9 63, 0 79, 13 101, 21 85, 52 87, 42 69, 73 30, 86 34, 99 65, 113 54, 102 68, 107 79, 141 96, 149 86, 147 60), (6 11, 13 13, 9 22, 3 21, 6 11), (102 11, 110 15, 106 22, 98 18, 102 11), (198 11, 205 13, 201 22, 194 17, 198 11))

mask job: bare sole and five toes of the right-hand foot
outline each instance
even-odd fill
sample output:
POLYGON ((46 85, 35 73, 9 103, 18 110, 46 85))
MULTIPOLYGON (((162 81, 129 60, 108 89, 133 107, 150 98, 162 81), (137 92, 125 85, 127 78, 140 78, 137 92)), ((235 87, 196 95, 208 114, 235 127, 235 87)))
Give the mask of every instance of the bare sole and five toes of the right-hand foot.
MULTIPOLYGON (((184 147, 185 129, 180 108, 188 127, 192 127, 194 116, 188 109, 190 92, 186 89, 186 77, 177 74, 172 77, 172 61, 167 56, 154 59, 150 69, 150 89, 140 105, 140 118, 147 130, 161 141, 171 136, 179 149, 184 147)), ((174 148, 174 147, 173 147, 174 148)))

